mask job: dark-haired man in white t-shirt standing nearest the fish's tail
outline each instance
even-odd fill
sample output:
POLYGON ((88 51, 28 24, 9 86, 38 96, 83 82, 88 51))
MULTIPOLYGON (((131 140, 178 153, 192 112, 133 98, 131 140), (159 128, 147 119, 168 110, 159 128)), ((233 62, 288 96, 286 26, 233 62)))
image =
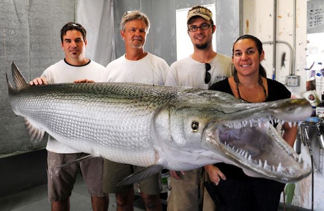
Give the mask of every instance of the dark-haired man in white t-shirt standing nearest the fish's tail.
MULTIPOLYGON (((65 58, 47 68, 41 77, 30 81, 30 85, 47 83, 102 81, 105 68, 85 56, 87 45, 86 30, 73 22, 67 23, 61 29, 61 46, 65 58)), ((108 210, 108 195, 103 192, 103 158, 89 158, 65 168, 58 168, 66 163, 78 160, 88 154, 81 153, 60 143, 53 137, 48 137, 47 179, 48 197, 51 210, 69 210, 71 191, 80 169, 91 195, 93 210, 108 210)))

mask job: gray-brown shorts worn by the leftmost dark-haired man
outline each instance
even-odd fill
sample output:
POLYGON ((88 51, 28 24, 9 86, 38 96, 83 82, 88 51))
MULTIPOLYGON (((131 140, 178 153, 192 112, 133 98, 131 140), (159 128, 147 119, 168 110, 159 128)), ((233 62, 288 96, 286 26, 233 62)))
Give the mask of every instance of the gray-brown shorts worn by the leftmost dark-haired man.
POLYGON ((102 189, 103 158, 89 158, 80 163, 57 168, 62 164, 75 161, 86 155, 88 154, 60 154, 47 151, 47 187, 49 201, 61 201, 71 196, 79 169, 91 196, 107 196, 107 194, 103 193, 102 189))

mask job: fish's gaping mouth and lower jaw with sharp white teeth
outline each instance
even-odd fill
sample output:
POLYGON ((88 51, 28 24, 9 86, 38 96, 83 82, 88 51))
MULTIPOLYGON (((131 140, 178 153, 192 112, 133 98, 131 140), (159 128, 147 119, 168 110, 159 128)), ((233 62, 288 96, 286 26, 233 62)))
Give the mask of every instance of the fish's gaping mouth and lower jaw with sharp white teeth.
MULTIPOLYGON (((297 181, 308 176, 311 167, 270 123, 279 121, 266 116, 216 123, 205 131, 205 140, 233 164, 243 167, 249 176, 261 174, 281 182, 297 181)), ((289 124, 296 125, 296 122, 289 124)))

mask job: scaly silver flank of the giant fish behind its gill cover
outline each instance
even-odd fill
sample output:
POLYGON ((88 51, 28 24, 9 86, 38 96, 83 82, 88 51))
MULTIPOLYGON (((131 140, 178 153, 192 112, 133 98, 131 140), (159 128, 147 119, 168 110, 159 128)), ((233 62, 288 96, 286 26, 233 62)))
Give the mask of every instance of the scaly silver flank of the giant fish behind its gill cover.
MULTIPOLYGON (((90 90, 84 87, 82 84, 72 83, 37 87, 40 92, 46 94, 40 98, 39 92, 31 89, 30 92, 25 92, 21 96, 17 95, 16 98, 12 98, 15 104, 14 110, 26 113, 25 117, 32 122, 40 122, 45 130, 53 133, 51 135, 54 138, 58 137, 56 139, 68 138, 77 141, 78 145, 80 144, 77 150, 89 151, 86 143, 101 142, 111 149, 102 155, 106 158, 116 159, 120 157, 120 153, 135 152, 120 161, 134 162, 139 159, 137 157, 143 160, 143 155, 147 154, 147 162, 138 161, 135 164, 153 164, 155 162, 154 143, 150 141, 148 125, 156 110, 155 106, 158 104, 161 106, 161 103, 151 103, 151 100, 161 101, 157 100, 158 93, 150 92, 149 95, 149 92, 144 92, 140 95, 139 89, 128 89, 121 85, 107 87, 102 83, 97 83, 90 90), (64 90, 70 90, 70 92, 64 90), (112 100, 107 93, 112 93, 112 97, 115 96, 117 100, 112 100), (121 96, 134 100, 129 102, 121 96), (112 105, 109 102, 113 102, 112 105), (125 103, 129 106, 125 106, 125 103), (26 104, 30 106, 26 107, 26 104), (103 109, 107 115, 102 112, 103 109), (40 112, 43 115, 39 115, 40 112), (46 120, 40 117, 46 117, 46 120), (94 129, 101 130, 93 131, 94 129)), ((65 144, 69 145, 68 142, 65 144)), ((102 150, 93 149, 93 151, 88 153, 96 154, 96 151, 102 150)))

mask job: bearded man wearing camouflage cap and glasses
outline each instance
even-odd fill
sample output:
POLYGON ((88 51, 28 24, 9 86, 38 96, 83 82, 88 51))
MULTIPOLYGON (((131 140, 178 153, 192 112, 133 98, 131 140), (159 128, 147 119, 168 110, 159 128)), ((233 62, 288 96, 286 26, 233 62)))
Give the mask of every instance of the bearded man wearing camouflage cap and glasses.
MULTIPOLYGON (((166 86, 189 86, 208 89, 213 83, 230 77, 233 72, 232 60, 213 50, 212 39, 216 26, 212 12, 196 6, 188 11, 188 35, 194 45, 194 53, 174 62, 166 77, 166 86)), ((225 176, 214 165, 206 165, 209 179, 217 185, 225 176)), ((204 191, 205 173, 203 168, 182 172, 170 171, 171 192, 167 209, 214 210, 215 204, 204 191)))

